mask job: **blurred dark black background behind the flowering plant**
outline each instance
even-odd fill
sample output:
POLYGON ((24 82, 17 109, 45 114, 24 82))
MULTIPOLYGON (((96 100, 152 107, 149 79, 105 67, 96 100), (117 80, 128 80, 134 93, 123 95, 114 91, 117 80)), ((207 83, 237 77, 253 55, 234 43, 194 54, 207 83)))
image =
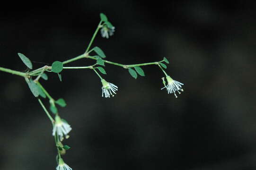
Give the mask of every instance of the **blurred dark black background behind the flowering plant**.
MULTIPOLYGON (((34 68, 82 54, 103 12, 116 31, 92 47, 122 64, 166 57, 185 91, 160 90, 156 66, 135 80, 106 65, 104 78, 119 87, 109 99, 92 70, 64 70, 62 82, 48 73, 41 83, 68 104, 59 108, 72 127, 64 161, 73 170, 255 170, 255 11, 243 0, 9 1, 0 7, 0 67, 25 71, 18 52, 34 68)), ((55 169, 51 123, 22 77, 0 72, 0 113, 0 170, 55 169)))

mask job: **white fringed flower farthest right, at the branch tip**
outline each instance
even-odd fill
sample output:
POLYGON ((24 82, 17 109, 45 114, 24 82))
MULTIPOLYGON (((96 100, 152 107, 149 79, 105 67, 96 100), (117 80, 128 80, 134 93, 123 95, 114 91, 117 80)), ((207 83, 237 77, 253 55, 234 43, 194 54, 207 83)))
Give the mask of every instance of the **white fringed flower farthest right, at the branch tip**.
MULTIPOLYGON (((164 77, 162 79, 165 85, 164 77)), ((163 88, 161 88, 161 90, 166 88, 166 90, 168 91, 168 94, 174 93, 175 97, 177 98, 176 92, 178 92, 179 94, 180 94, 179 91, 183 92, 181 85, 184 85, 184 84, 176 80, 173 80, 170 76, 166 76, 166 79, 167 79, 168 85, 165 85, 163 88)))

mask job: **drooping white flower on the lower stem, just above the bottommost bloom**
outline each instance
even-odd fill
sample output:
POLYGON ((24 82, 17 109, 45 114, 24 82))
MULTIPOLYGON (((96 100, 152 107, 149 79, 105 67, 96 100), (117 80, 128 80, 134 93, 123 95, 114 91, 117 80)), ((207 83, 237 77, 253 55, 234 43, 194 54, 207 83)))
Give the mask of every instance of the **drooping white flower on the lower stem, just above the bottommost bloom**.
POLYGON ((53 125, 53 136, 55 136, 56 132, 57 135, 60 136, 60 139, 63 139, 63 136, 65 135, 66 138, 68 138, 68 133, 71 131, 70 125, 66 122, 63 121, 59 116, 55 117, 55 122, 53 125))

